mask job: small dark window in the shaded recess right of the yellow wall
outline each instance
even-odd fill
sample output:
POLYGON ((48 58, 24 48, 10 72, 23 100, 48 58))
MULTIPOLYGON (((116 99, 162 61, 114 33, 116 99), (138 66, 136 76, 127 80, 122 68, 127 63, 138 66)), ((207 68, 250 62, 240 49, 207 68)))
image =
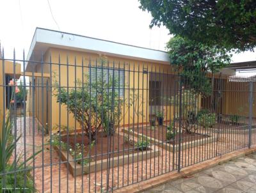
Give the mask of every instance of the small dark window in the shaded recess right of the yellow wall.
POLYGON ((161 105, 160 81, 149 81, 149 105, 161 105))

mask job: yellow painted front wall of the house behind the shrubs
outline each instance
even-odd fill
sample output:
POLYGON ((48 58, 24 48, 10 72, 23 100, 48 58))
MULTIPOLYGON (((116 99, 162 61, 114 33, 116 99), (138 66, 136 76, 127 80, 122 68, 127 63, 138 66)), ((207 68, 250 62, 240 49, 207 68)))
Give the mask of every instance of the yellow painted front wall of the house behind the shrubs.
MULTIPOLYGON (((91 54, 86 52, 78 52, 72 50, 61 50, 61 49, 49 49, 45 54, 45 61, 49 61, 49 56, 51 53, 52 58, 52 84, 53 82, 59 81, 59 70, 60 70, 60 79, 61 81, 60 86, 72 88, 74 86, 74 82, 77 79, 82 79, 83 73, 88 72, 88 65, 91 63, 91 66, 95 66, 96 60, 99 59, 99 54, 91 54), (60 64, 59 63, 59 55, 60 55, 60 64), (67 61, 68 56, 68 61, 67 61), (76 56, 76 65, 75 65, 75 56, 76 56), (82 66, 82 59, 83 59, 83 66, 82 66), (69 64, 67 67, 67 63, 69 64), (54 75, 56 74, 56 75, 54 75)), ((132 106, 129 108, 128 102, 125 105, 125 116, 124 120, 120 122, 120 125, 127 125, 127 124, 136 124, 136 123, 145 123, 148 122, 150 107, 148 105, 148 84, 149 84, 149 77, 150 73, 143 73, 143 66, 148 72, 158 72, 161 73, 171 73, 171 66, 170 65, 161 65, 158 63, 149 63, 146 61, 138 61, 133 59, 126 59, 126 58, 116 58, 113 56, 106 56, 109 61, 109 67, 113 67, 113 62, 115 61, 115 68, 118 67, 120 63, 120 68, 125 69, 125 99, 128 101, 128 96, 133 97, 132 91, 135 92, 135 95, 140 96, 139 102, 134 102, 134 106, 136 105, 136 111, 134 112, 134 106, 132 102, 132 106), (143 89, 142 89, 143 88, 143 89), (143 96, 143 97, 142 97, 143 96), (138 104, 140 104, 139 116, 136 114, 138 111, 138 104), (143 116, 142 116, 142 109, 143 109, 143 116)), ((47 65, 45 65, 47 66, 47 65)), ((49 66, 47 66, 49 70, 49 66)), ((47 68, 44 69, 44 72, 48 72, 47 68)), ((36 72, 41 72, 40 67, 36 67, 36 72)), ((40 78, 39 78, 40 79, 40 78)), ((166 79, 164 81, 167 81, 166 79)), ((166 88, 167 89, 167 88, 166 88)), ((53 91, 53 90, 52 90, 53 91)), ((39 94, 40 95, 40 94, 39 94)), ((40 96, 36 96, 36 101, 41 101, 40 96)), ((48 102, 44 102, 44 104, 49 104, 48 102)), ((30 105, 31 106, 31 105, 30 105)), ((38 108, 42 111, 42 107, 36 106, 36 111, 38 108)), ((46 108, 44 107, 44 110, 46 108)), ((164 119, 170 120, 173 116, 173 107, 169 105, 164 105, 160 108, 164 110, 164 119)), ((122 109, 123 111, 124 109, 122 109)), ((36 117, 40 120, 40 114, 36 115, 36 117)), ((49 109, 50 111, 50 109, 49 109)), ((45 116, 44 116, 45 117, 45 116)), ((40 120, 42 121, 42 120, 40 120)), ((57 125, 67 125, 69 127, 75 126, 75 120, 73 118, 73 114, 68 114, 65 105, 60 105, 56 97, 52 96, 52 127, 56 127, 57 125), (60 118, 60 122, 59 122, 60 118)), ((76 125, 79 128, 79 124, 76 125)))

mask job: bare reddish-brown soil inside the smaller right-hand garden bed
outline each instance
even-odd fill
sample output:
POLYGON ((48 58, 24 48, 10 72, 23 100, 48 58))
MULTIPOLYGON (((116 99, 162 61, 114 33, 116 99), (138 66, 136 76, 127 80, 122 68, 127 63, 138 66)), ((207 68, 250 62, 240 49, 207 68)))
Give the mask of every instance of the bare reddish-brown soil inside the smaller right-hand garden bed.
MULTIPOLYGON (((147 127, 145 126, 143 128, 142 127, 135 128, 134 132, 139 132, 140 134, 143 133, 144 135, 147 135, 149 139, 150 139, 150 137, 152 137, 154 139, 158 139, 159 141, 166 141, 167 127, 157 125, 154 128, 154 130, 152 130, 150 126, 147 126, 147 127)), ((186 143, 186 142, 190 142, 190 141, 194 141, 194 140, 200 140, 200 139, 204 139, 207 137, 208 136, 204 135, 204 134, 196 134, 196 133, 188 134, 186 132, 182 132, 181 133, 181 143, 186 143)), ((167 140, 166 142, 171 143, 171 144, 179 143, 179 132, 175 135, 174 140, 173 139, 170 141, 167 140)))

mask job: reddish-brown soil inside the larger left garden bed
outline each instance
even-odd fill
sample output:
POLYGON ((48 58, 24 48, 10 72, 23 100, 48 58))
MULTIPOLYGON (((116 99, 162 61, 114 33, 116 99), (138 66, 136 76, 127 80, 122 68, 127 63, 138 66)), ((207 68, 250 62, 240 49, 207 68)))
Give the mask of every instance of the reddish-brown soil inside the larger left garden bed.
MULTIPOLYGON (((67 143, 67 136, 62 137, 62 141, 67 143)), ((97 144, 92 147, 91 151, 89 148, 88 137, 84 136, 83 139, 81 134, 69 135, 68 144, 72 146, 73 150, 76 143, 84 144, 84 157, 89 155, 90 152, 90 157, 92 157, 93 160, 102 160, 108 158, 108 152, 110 158, 140 152, 140 150, 138 150, 134 145, 124 142, 124 136, 118 134, 111 136, 111 150, 109 150, 108 144, 110 142, 108 141, 108 137, 102 132, 97 133, 97 144)))

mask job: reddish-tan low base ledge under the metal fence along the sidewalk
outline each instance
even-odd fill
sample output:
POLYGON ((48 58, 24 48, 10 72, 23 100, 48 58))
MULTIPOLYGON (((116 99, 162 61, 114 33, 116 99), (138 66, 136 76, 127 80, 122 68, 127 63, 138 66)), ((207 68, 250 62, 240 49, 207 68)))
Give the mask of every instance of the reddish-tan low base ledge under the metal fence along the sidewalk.
POLYGON ((193 166, 186 167, 178 173, 177 171, 173 171, 172 173, 166 173, 161 176, 157 176, 155 178, 151 178, 149 180, 143 181, 141 183, 136 183, 134 185, 130 185, 129 187, 124 187, 122 189, 115 190, 115 192, 142 192, 145 190, 150 190, 159 185, 163 185, 164 183, 168 183, 173 180, 177 180, 184 176, 188 176, 191 174, 198 173, 204 169, 209 169, 210 167, 216 166, 218 164, 223 164, 228 162, 229 160, 236 159, 239 157, 243 157, 244 155, 248 155, 256 151, 256 146, 253 148, 246 148, 238 151, 234 151, 232 153, 227 153, 222 155, 222 157, 212 158, 211 160, 207 160, 205 162, 201 162, 195 164, 193 166))

